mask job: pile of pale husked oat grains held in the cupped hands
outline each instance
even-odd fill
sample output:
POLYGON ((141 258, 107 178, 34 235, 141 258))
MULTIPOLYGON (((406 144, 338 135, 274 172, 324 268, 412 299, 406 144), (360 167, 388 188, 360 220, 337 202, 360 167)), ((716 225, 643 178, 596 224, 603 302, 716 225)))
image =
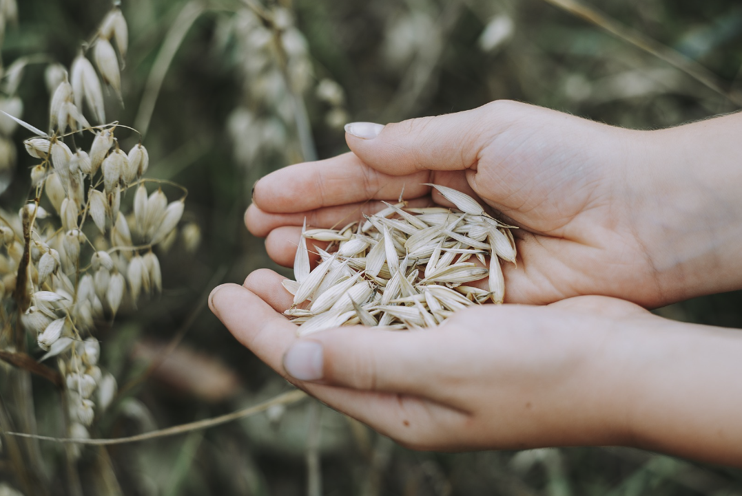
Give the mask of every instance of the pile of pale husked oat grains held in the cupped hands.
POLYGON ((283 281, 294 295, 284 314, 301 326, 300 336, 340 325, 431 327, 469 305, 502 303, 499 259, 515 262, 513 226, 493 219, 460 191, 429 186, 456 208, 407 208, 400 199, 364 215, 363 224, 307 230, 305 222, 296 280, 283 281), (312 271, 307 239, 330 243, 326 251, 315 247, 321 263, 312 271), (485 278, 487 290, 467 285, 485 278))

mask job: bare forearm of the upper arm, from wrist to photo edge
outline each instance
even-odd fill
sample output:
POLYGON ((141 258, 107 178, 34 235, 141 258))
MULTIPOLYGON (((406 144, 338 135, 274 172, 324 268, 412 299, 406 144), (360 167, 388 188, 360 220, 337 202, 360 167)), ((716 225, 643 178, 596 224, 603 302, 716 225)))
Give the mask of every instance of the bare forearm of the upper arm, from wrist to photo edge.
POLYGON ((742 113, 642 135, 626 182, 664 300, 742 288, 742 113))

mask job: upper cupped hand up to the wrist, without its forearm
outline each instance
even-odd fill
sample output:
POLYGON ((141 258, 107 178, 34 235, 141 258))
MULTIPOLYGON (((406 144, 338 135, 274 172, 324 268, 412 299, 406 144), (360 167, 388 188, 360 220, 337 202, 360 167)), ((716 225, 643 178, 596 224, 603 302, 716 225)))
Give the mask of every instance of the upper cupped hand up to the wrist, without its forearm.
MULTIPOLYGON (((255 185, 246 225, 290 266, 299 227, 344 225, 404 189, 413 205, 436 183, 470 194, 518 225, 518 265, 506 264, 507 302, 543 304, 583 294, 640 305, 672 300, 637 231, 644 134, 553 110, 493 102, 447 116, 351 125, 352 153, 283 168, 255 185), (378 132, 378 136, 373 136, 378 132), (628 186, 631 184, 631 187, 628 186)), ((433 200, 448 204, 437 192, 433 200)))

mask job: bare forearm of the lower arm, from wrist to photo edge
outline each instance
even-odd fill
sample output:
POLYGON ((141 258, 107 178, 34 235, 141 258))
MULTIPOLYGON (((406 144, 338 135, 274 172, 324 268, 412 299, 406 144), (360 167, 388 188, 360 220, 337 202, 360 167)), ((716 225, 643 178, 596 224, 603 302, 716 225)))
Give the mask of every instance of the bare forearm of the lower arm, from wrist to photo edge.
POLYGON ((742 466, 742 331, 651 322, 611 350, 623 444, 742 466))

